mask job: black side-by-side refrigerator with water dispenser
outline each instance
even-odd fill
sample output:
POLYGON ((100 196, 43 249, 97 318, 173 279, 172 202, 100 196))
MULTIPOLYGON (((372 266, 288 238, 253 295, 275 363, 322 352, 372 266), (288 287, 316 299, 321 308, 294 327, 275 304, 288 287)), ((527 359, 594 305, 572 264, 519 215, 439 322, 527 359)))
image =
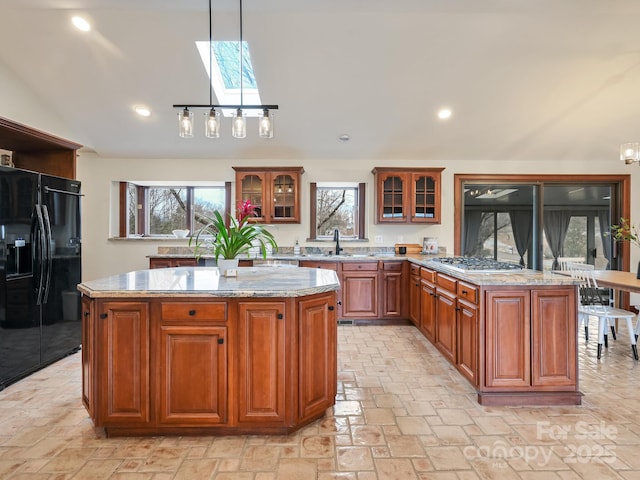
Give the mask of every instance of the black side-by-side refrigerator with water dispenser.
POLYGON ((0 390, 81 343, 80 182, 0 167, 0 390))

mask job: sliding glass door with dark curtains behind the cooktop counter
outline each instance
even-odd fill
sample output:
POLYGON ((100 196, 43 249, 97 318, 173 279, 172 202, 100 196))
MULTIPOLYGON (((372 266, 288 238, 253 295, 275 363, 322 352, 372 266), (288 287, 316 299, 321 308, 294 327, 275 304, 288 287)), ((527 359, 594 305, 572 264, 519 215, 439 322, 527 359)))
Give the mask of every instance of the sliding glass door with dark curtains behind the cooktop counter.
POLYGON ((617 268, 607 233, 620 216, 619 189, 584 179, 464 182, 459 251, 536 270, 557 269, 566 257, 617 268))

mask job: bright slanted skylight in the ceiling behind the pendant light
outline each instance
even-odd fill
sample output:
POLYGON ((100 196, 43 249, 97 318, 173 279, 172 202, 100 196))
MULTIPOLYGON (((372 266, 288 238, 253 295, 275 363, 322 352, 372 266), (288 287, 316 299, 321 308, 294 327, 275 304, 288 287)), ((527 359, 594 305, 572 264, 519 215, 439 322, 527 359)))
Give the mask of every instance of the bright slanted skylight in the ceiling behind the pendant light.
MULTIPOLYGON (((213 62, 212 70, 209 71, 209 42, 196 42, 196 48, 200 53, 202 64, 209 75, 213 92, 215 93, 219 105, 240 105, 240 42, 219 41, 213 42, 213 62)), ((242 104, 262 105, 258 84, 253 72, 249 44, 242 42, 242 57, 244 61, 242 78, 242 104)), ((225 117, 235 114, 232 109, 223 109, 225 117)), ((262 115, 261 110, 245 110, 246 116, 262 115)))

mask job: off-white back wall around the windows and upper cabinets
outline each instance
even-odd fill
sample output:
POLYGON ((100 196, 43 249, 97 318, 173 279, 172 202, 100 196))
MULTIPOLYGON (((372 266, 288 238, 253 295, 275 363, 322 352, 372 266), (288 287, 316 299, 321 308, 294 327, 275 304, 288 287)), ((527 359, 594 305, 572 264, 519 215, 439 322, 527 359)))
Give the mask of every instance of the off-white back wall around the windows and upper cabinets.
MULTIPOLYGON (((235 188, 235 171, 232 166, 303 166, 302 221, 299 225, 272 227, 278 244, 292 246, 296 239, 302 246, 309 235, 309 183, 323 181, 365 182, 367 184, 366 235, 373 246, 373 239, 381 235, 384 245, 403 241, 422 243, 423 237, 438 237, 439 244, 453 252, 453 175, 455 173, 496 174, 633 174, 637 166, 625 166, 616 158, 600 163, 540 161, 505 163, 494 161, 439 162, 437 160, 394 161, 392 165, 379 161, 344 161, 328 159, 322 162, 283 162, 280 160, 251 160, 246 162, 221 162, 218 160, 170 160, 170 159, 114 159, 101 158, 92 153, 81 153, 78 159, 78 178, 82 181, 83 200, 83 280, 143 269, 148 266, 147 255, 157 253, 158 246, 186 246, 186 240, 113 240, 117 235, 110 231, 110 224, 117 225, 116 198, 112 188, 114 181, 122 180, 212 180, 231 181, 235 188), (442 223, 428 226, 397 226, 374 224, 374 184, 371 170, 376 166, 397 167, 445 167, 442 172, 442 223)), ((639 172, 640 173, 640 172, 639 172)), ((632 175, 632 183, 635 176, 632 175)), ((632 194, 637 188, 632 188, 632 194)), ((638 204, 637 195, 632 205, 638 204)), ((633 217, 632 217, 633 220, 633 217)), ((343 242, 343 245, 344 242, 343 242)), ((363 244, 359 243, 358 246, 363 244)), ((365 244, 366 245, 366 244, 365 244)), ((634 255, 640 252, 632 252, 634 255)), ((632 257, 632 265, 638 258, 632 257)))

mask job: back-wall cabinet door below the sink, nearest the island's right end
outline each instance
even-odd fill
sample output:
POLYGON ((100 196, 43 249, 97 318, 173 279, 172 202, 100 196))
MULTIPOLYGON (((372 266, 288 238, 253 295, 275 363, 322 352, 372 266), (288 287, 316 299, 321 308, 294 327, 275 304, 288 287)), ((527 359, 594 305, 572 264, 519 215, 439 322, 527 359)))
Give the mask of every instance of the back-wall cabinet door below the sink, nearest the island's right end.
POLYGON ((377 271, 343 271, 342 317, 377 318, 377 292, 377 271))

